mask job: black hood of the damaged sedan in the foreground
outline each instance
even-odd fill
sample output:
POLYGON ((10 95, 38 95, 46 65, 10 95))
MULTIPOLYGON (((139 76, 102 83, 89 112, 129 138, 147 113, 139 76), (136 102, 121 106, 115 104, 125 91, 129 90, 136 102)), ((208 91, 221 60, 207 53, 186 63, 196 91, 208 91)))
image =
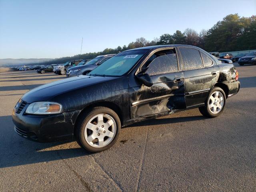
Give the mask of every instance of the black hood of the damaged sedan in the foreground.
POLYGON ((22 96, 22 100, 32 103, 36 101, 47 101, 50 98, 92 84, 112 80, 118 77, 86 76, 80 75, 34 88, 22 96))

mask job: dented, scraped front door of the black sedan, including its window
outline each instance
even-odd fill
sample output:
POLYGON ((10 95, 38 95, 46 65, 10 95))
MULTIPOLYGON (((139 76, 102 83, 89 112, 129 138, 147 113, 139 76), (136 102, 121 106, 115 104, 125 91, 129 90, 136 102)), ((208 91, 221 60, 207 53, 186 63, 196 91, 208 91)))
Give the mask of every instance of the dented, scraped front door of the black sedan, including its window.
MULTIPOLYGON (((139 119, 185 109, 184 75, 178 70, 176 50, 155 52, 145 63, 153 85, 134 84, 129 88, 131 118, 139 119)), ((131 84, 130 84, 131 85, 131 84)))

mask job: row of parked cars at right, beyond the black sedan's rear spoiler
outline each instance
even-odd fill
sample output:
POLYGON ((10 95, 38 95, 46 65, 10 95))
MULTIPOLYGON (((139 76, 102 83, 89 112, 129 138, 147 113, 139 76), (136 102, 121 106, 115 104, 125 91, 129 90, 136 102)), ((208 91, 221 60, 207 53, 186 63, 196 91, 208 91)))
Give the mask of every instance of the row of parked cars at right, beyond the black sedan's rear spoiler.
POLYGON ((231 53, 219 54, 219 52, 210 52, 210 54, 220 59, 230 59, 232 60, 232 62, 238 62, 239 65, 256 64, 256 51, 252 51, 249 53, 240 53, 236 56, 233 56, 231 53))

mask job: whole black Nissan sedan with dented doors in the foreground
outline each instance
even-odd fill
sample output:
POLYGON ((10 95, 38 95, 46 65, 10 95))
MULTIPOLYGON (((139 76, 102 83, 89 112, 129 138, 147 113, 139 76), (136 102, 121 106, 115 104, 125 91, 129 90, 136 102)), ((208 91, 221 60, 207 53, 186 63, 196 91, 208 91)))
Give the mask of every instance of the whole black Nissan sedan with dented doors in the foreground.
POLYGON ((220 115, 239 91, 233 64, 186 45, 127 50, 87 75, 30 90, 14 107, 14 130, 38 142, 75 139, 90 152, 114 145, 122 126, 199 108, 220 115))

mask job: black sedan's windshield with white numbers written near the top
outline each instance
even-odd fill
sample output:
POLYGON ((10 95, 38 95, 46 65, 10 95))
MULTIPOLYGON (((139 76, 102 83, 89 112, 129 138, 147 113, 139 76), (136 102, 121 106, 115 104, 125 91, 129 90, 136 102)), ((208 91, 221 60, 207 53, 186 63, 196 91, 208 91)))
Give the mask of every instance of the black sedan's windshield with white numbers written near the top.
POLYGON ((92 70, 91 76, 122 76, 130 70, 148 50, 131 50, 117 54, 92 70))

